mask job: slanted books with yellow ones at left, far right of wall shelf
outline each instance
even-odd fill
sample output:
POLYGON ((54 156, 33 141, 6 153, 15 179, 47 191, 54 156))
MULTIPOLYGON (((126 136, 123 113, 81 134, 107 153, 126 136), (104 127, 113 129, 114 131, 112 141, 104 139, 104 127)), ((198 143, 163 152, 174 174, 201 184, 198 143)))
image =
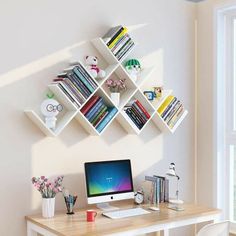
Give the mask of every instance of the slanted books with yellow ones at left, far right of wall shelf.
POLYGON ((169 96, 158 108, 157 112, 172 129, 184 113, 183 104, 174 96, 169 96))

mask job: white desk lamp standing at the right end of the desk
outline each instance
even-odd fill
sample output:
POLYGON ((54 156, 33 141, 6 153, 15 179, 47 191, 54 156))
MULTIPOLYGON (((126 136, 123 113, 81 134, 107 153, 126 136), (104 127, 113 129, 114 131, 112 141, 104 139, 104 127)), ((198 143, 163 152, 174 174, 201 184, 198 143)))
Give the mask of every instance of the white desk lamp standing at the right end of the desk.
POLYGON ((179 180, 180 177, 176 174, 175 171, 175 163, 170 163, 169 169, 166 172, 166 175, 170 177, 176 177, 177 178, 177 190, 176 190, 176 199, 169 199, 169 203, 171 203, 170 207, 173 210, 176 211, 183 211, 184 209, 180 207, 179 205, 183 204, 184 202, 179 199, 179 180))

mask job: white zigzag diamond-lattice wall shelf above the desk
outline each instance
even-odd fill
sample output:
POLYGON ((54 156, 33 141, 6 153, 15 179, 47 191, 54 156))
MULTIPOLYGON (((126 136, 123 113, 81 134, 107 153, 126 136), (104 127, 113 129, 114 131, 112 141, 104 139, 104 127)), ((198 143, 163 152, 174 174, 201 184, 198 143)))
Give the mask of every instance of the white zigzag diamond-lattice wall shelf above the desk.
MULTIPOLYGON (((116 119, 120 125, 128 132, 132 134, 140 134, 146 127, 149 122, 153 122, 159 130, 162 132, 174 133, 177 127, 181 124, 183 119, 188 114, 187 110, 182 112, 181 117, 175 123, 175 125, 171 128, 167 122, 162 118, 162 116, 157 112, 157 109, 163 104, 166 98, 172 94, 172 90, 164 90, 163 96, 160 100, 156 100, 155 102, 150 102, 146 96, 143 94, 143 84, 148 80, 149 76, 153 73, 155 67, 143 68, 138 80, 135 82, 127 73, 124 68, 124 62, 128 59, 131 51, 122 58, 122 60, 118 60, 112 53, 112 51, 107 47, 104 40, 102 38, 96 38, 92 40, 93 46, 97 49, 97 51, 103 56, 107 63, 106 77, 102 80, 95 81, 97 84, 97 88, 93 91, 93 93, 87 98, 87 100, 81 105, 81 107, 77 107, 74 103, 67 97, 67 95, 61 90, 59 85, 50 84, 48 85, 49 90, 51 90, 56 99, 63 105, 64 111, 63 114, 60 115, 60 119, 58 119, 56 129, 52 130, 47 128, 45 125, 43 117, 38 115, 34 110, 25 110, 25 114, 41 129, 41 131, 47 136, 58 136, 63 129, 70 123, 72 119, 76 119, 84 129, 91 135, 102 135, 103 132, 110 126, 114 119, 116 119), (125 78, 127 90, 121 94, 120 104, 119 106, 115 106, 113 101, 110 98, 110 92, 105 85, 105 81, 111 76, 117 78, 125 78), (103 98, 104 103, 109 107, 116 107, 116 114, 109 120, 108 124, 99 132, 84 116, 81 112, 81 109, 86 105, 86 103, 91 99, 92 96, 98 95, 103 98), (130 119, 130 117, 125 113, 124 106, 129 103, 131 100, 137 99, 141 102, 143 107, 150 114, 150 118, 147 120, 145 125, 138 129, 134 122, 130 119)), ((81 66, 82 63, 80 62, 81 66)), ((85 67, 83 67, 85 69, 85 67)), ((86 69, 85 69, 86 70, 86 69)))

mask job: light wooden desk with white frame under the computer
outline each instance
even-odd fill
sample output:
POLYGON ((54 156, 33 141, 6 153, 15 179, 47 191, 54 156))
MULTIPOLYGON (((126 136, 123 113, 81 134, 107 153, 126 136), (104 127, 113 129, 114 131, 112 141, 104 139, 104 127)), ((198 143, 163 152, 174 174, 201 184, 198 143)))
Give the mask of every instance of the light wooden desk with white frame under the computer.
MULTIPOLYGON (((139 207, 133 202, 112 203, 122 209, 139 207)), ((148 210, 150 205, 141 207, 148 210)), ((55 217, 45 219, 41 215, 26 216, 27 236, 80 236, 80 235, 138 235, 162 231, 168 236, 169 229, 215 221, 219 218, 220 210, 209 207, 184 204, 184 211, 168 209, 168 204, 160 204, 160 211, 151 211, 150 214, 123 219, 109 219, 102 216, 102 212, 94 206, 98 216, 95 222, 86 221, 86 209, 75 211, 74 215, 66 215, 65 211, 57 212, 55 217)))

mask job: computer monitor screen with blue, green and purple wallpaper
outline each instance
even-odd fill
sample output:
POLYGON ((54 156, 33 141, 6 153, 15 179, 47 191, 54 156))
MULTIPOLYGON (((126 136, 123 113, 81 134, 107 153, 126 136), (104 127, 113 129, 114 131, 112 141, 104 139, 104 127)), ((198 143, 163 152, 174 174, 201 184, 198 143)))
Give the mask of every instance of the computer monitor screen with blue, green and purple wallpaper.
POLYGON ((133 192, 130 160, 85 163, 87 196, 133 192))

